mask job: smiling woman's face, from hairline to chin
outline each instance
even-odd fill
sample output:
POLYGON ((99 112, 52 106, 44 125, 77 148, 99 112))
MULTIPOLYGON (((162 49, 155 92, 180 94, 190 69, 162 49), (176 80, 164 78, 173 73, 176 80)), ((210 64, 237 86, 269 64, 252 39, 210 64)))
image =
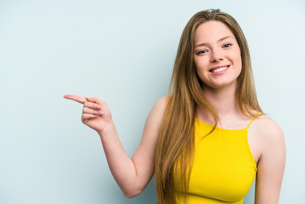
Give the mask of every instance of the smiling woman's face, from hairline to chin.
POLYGON ((208 21, 195 31, 194 61, 203 88, 236 87, 242 70, 239 45, 232 31, 220 21, 208 21))

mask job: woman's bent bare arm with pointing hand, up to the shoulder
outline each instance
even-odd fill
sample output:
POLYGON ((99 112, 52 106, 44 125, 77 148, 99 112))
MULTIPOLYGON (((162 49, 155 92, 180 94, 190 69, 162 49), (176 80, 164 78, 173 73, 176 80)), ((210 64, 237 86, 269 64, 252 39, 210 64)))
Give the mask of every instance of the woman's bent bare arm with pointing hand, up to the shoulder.
POLYGON ((81 120, 99 134, 110 171, 124 195, 132 198, 141 193, 154 174, 155 150, 167 97, 153 105, 141 142, 131 159, 122 147, 105 102, 75 95, 65 95, 64 98, 84 104, 81 120))

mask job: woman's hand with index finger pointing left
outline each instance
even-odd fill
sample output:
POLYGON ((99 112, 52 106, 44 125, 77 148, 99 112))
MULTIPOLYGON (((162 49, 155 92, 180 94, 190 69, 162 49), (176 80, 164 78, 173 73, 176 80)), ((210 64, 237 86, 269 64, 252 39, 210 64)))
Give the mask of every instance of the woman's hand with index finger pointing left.
POLYGON ((101 134, 106 126, 112 124, 111 112, 106 102, 95 97, 84 98, 76 95, 65 95, 63 98, 70 99, 83 104, 81 122, 96 130, 101 134))

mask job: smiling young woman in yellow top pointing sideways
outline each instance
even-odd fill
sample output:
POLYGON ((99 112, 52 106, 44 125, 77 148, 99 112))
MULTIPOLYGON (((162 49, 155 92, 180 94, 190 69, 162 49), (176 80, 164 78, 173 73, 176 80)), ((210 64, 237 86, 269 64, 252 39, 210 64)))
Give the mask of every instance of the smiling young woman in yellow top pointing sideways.
POLYGON ((131 159, 105 102, 64 98, 83 104, 81 120, 99 134, 127 198, 155 173, 158 204, 242 204, 256 176, 255 204, 277 204, 284 136, 257 102, 247 41, 231 16, 207 10, 191 18, 169 90, 152 107, 131 159))

